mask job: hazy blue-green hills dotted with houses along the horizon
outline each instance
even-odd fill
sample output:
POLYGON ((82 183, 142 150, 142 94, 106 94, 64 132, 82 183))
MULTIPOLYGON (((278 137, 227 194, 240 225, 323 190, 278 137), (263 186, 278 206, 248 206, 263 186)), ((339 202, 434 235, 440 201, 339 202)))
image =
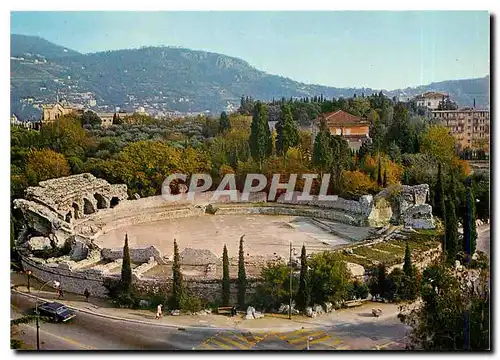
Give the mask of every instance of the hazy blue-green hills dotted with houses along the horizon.
MULTIPOLYGON (((11 59, 11 106, 13 112, 22 114, 27 103, 53 102, 56 93, 76 103, 95 98, 98 106, 107 105, 108 109, 143 106, 160 111, 220 112, 228 105, 237 107, 242 95, 261 100, 319 94, 338 98, 375 91, 308 85, 267 74, 238 58, 184 48, 144 47, 80 54, 38 37, 12 35, 11 56, 22 54, 23 60, 11 59)), ((478 81, 481 83, 481 79, 478 81)), ((449 83, 445 86, 449 90, 444 91, 452 96, 460 94, 471 104, 475 95, 476 102, 479 98, 486 101, 481 85, 471 93, 467 90, 471 85, 459 85, 460 80, 449 83)), ((402 91, 384 92, 393 96, 402 91)))

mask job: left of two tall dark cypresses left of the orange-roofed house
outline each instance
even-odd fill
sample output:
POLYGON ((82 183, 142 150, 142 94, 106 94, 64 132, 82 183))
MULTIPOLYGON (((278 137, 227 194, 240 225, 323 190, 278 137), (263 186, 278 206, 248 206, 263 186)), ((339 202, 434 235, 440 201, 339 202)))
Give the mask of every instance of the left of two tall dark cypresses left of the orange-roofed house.
POLYGON ((272 135, 267 120, 266 105, 258 101, 253 111, 248 144, 252 158, 259 163, 260 169, 262 161, 272 153, 272 135))

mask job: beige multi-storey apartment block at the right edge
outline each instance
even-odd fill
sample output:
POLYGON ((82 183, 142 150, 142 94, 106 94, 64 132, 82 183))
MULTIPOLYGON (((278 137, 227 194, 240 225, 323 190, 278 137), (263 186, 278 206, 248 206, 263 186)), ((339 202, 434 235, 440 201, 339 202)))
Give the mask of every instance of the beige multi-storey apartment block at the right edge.
POLYGON ((462 149, 483 149, 489 153, 490 111, 463 108, 459 110, 432 111, 435 123, 450 129, 462 149))

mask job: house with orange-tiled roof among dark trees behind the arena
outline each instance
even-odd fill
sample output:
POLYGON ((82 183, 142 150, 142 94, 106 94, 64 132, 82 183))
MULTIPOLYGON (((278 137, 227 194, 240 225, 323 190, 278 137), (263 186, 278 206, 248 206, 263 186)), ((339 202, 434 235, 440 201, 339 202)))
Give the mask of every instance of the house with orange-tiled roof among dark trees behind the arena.
POLYGON ((359 116, 355 116, 338 110, 335 112, 323 114, 320 118, 313 121, 312 124, 312 142, 320 130, 320 122, 326 122, 332 135, 341 135, 347 140, 349 148, 358 151, 364 140, 370 139, 370 122, 359 116))

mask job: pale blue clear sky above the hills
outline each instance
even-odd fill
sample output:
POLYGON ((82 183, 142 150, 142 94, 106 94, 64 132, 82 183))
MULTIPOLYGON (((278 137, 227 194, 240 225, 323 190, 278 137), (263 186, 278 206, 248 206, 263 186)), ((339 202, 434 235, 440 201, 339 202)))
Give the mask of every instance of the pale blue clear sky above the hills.
POLYGON ((181 46, 308 84, 397 89, 489 74, 486 11, 12 12, 82 53, 181 46))

